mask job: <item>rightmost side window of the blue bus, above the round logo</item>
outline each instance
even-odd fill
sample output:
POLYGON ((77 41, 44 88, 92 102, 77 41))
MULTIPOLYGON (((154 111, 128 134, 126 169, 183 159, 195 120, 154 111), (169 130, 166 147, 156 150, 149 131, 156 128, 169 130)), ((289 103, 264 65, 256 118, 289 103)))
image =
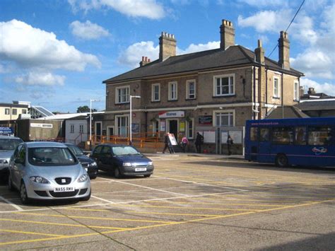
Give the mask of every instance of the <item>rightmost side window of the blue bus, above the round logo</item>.
POLYGON ((331 144, 331 127, 310 127, 308 129, 308 144, 312 146, 331 144))

